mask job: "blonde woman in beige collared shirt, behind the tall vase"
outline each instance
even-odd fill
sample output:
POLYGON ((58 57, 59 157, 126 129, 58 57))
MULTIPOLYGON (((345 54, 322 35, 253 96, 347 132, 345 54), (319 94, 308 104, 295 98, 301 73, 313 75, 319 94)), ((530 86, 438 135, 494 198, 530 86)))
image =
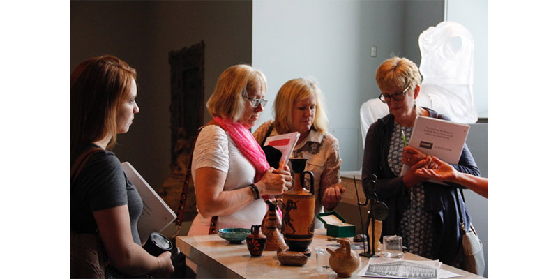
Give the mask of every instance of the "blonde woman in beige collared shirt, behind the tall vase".
MULTIPOLYGON (((299 132, 299 141, 292 158, 306 158, 306 169, 314 174, 316 206, 315 213, 333 211, 341 202, 345 188, 339 174, 341 157, 339 142, 327 132, 328 119, 322 90, 307 78, 289 80, 279 89, 273 112, 275 121, 267 121, 254 132, 259 144, 266 137, 299 132)), ((306 185, 309 189, 309 186, 306 185)), ((315 220, 315 228, 324 224, 315 220)))

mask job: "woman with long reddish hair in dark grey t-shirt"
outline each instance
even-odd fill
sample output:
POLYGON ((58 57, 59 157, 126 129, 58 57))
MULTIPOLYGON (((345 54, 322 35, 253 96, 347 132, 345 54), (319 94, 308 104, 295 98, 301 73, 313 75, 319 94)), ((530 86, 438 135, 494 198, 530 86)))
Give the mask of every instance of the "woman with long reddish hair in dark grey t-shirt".
POLYGON ((109 151, 116 135, 128 132, 134 114, 140 112, 136 97, 135 69, 114 56, 87 59, 70 74, 70 166, 93 151, 89 160, 79 160, 84 162, 79 174, 71 177, 74 167, 70 167, 71 278, 121 277, 122 273, 151 273, 159 278, 174 272, 170 252, 153 257, 142 248, 137 232, 142 198, 120 160, 109 151), (80 248, 83 241, 73 240, 84 240, 84 235, 94 239, 95 234, 106 251, 107 267, 104 262, 91 266, 89 257, 73 257, 86 252, 80 248))

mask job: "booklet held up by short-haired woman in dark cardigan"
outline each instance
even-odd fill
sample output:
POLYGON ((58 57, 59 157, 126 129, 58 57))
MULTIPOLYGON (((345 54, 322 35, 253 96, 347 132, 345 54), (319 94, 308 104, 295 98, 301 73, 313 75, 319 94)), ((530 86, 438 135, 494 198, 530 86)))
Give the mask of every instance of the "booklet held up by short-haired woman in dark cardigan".
MULTIPOLYGON (((436 156, 448 164, 457 164, 467 140, 467 133, 469 133, 467 124, 418 116, 414 121, 409 146, 430 156, 436 156)), ((405 175, 407 171, 409 165, 404 164, 400 176, 405 175)))

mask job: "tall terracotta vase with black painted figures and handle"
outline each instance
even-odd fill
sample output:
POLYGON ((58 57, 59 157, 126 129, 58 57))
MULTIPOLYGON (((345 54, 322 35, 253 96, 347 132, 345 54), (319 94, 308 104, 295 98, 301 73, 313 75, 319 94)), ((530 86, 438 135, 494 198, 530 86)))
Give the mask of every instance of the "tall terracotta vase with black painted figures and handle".
POLYGON ((290 159, 294 172, 294 187, 283 193, 282 233, 290 251, 305 252, 314 238, 315 199, 314 174, 304 171, 306 159, 290 159), (310 190, 306 190, 304 179, 310 177, 310 190))

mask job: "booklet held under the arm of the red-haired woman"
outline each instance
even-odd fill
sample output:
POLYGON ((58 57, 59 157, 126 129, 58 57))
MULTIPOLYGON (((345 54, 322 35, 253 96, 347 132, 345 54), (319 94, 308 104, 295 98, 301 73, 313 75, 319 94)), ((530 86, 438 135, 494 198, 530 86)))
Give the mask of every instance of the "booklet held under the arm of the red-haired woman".
POLYGON ((137 231, 142 243, 145 243, 152 232, 162 232, 163 229, 174 222, 176 214, 130 163, 123 162, 122 168, 130 182, 134 184, 137 192, 140 193, 144 203, 142 215, 137 220, 137 231))

